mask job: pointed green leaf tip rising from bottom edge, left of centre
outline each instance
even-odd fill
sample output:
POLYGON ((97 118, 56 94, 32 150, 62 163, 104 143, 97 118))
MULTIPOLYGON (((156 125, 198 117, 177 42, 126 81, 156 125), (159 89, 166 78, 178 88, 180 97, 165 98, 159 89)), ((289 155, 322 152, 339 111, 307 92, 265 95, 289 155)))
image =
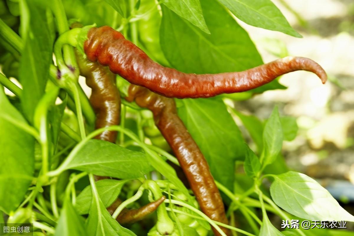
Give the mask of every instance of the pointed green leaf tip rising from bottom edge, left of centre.
POLYGON ((55 236, 82 236, 87 235, 84 218, 75 211, 69 200, 64 202, 57 227, 55 228, 55 236))

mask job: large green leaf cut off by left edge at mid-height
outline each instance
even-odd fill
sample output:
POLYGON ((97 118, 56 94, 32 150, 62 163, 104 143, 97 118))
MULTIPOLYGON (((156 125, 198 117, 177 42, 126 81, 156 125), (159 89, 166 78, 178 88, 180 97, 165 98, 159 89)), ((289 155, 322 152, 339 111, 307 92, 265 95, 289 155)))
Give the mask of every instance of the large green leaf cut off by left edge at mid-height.
POLYGON ((9 214, 21 203, 34 172, 34 138, 15 124, 22 115, 0 85, 0 210, 9 214))

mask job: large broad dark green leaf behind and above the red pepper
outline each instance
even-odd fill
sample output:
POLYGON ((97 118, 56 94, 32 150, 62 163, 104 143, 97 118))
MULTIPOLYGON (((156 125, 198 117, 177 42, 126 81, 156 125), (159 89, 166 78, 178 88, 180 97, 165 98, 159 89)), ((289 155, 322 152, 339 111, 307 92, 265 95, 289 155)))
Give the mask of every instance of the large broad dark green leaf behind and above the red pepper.
MULTIPOLYGON (((204 33, 162 6, 161 49, 173 68, 185 73, 215 74, 263 64, 247 32, 219 2, 203 0, 201 7, 211 34, 204 33)), ((274 80, 251 91, 258 93, 283 87, 274 80)))

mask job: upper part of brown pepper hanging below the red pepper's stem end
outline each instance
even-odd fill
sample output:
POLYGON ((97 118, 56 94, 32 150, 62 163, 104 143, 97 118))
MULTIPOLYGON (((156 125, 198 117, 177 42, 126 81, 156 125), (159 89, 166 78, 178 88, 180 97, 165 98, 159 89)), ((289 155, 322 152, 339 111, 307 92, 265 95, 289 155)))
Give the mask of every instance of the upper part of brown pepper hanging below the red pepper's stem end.
MULTIPOLYGON (((86 77, 86 84, 92 89, 90 104, 96 114, 95 129, 119 125, 121 101, 115 84, 116 75, 107 67, 83 58, 78 51, 75 53, 80 75, 86 77)), ((115 143, 117 132, 106 130, 95 138, 115 143)))

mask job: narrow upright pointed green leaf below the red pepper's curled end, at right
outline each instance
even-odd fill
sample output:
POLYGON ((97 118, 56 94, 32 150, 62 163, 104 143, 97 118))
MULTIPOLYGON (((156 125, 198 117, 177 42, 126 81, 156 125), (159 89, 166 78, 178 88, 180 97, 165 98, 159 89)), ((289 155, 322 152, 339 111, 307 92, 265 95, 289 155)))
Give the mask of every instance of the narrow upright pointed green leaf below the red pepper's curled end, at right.
POLYGON ((272 114, 264 125, 263 129, 263 165, 272 163, 279 152, 283 143, 283 131, 281 128, 278 107, 275 106, 272 114))

